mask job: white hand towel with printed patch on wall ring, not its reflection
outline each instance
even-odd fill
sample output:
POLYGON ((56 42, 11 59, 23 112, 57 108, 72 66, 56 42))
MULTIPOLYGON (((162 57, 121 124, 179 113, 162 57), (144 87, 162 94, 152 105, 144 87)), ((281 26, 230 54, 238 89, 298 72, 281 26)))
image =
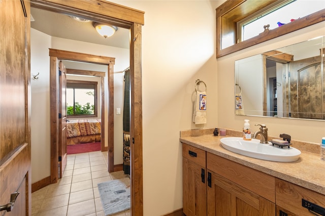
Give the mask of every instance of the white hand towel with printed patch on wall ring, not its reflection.
POLYGON ((194 102, 193 122, 195 124, 207 123, 207 93, 197 92, 197 98, 194 102))

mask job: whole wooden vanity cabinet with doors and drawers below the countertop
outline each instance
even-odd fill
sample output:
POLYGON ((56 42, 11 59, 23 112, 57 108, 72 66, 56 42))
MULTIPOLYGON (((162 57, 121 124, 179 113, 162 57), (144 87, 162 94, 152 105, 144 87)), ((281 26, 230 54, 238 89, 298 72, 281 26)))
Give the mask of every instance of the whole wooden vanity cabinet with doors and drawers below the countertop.
POLYGON ((302 199, 325 207, 323 194, 183 143, 186 216, 315 215, 302 199))

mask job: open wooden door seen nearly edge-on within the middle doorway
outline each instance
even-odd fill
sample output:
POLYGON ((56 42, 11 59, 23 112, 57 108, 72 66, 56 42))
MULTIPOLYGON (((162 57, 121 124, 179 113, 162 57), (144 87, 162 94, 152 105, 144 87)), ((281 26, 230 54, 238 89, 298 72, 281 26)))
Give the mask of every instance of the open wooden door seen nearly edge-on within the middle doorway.
POLYGON ((67 165, 67 75, 66 66, 59 62, 59 148, 58 178, 62 178, 67 165))

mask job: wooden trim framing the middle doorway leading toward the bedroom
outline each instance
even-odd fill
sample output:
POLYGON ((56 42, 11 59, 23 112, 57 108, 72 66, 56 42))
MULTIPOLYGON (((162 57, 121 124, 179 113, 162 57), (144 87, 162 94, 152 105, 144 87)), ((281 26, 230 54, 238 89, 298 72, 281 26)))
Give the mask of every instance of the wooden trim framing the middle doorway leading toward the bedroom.
MULTIPOLYGON (((57 170, 57 158, 58 158, 58 134, 59 121, 58 121, 58 71, 57 65, 59 60, 72 60, 81 61, 88 63, 100 63, 108 66, 108 86, 109 86, 109 112, 108 112, 108 150, 109 150, 109 161, 108 161, 108 171, 114 171, 114 65, 115 58, 105 57, 105 56, 95 56, 87 55, 84 53, 76 53, 71 51, 49 49, 49 55, 51 57, 51 71, 50 71, 50 89, 51 89, 51 183, 56 183, 58 180, 58 170, 57 170)), ((102 151, 105 150, 105 142, 103 142, 105 137, 105 93, 104 93, 104 78, 101 77, 102 84, 102 111, 101 111, 101 139, 102 151)))

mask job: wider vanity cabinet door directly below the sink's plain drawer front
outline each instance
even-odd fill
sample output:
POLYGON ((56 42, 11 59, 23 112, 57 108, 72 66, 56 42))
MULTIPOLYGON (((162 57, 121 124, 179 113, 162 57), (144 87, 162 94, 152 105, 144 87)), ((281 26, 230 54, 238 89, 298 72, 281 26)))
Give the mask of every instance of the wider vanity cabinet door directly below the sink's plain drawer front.
POLYGON ((210 170, 207 171, 209 179, 207 186, 208 216, 275 215, 275 203, 210 170))

